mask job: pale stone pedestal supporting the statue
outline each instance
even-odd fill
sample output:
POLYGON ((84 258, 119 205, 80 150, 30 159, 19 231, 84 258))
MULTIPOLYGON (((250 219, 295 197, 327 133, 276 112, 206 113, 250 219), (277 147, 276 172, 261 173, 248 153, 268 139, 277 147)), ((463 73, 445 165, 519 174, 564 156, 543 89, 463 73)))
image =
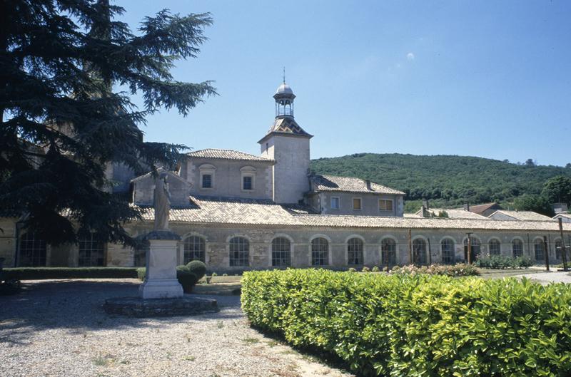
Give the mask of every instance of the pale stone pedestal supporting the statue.
POLYGON ((139 287, 142 299, 172 299, 183 296, 183 287, 176 279, 177 244, 181 237, 168 230, 147 234, 145 282, 139 287))

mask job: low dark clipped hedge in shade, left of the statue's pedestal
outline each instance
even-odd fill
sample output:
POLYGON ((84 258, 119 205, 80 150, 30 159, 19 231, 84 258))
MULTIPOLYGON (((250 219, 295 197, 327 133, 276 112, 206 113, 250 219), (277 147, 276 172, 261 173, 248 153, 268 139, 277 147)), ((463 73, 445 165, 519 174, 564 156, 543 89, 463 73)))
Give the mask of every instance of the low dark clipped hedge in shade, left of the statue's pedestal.
POLYGON ((3 280, 136 278, 134 267, 16 267, 3 269, 3 280))

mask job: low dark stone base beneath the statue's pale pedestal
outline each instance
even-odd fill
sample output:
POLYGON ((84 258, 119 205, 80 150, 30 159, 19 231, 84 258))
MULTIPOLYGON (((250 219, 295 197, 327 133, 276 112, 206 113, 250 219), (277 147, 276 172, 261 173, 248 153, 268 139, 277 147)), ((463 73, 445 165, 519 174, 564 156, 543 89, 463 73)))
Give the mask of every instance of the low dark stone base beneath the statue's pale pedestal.
POLYGON ((216 313, 218 303, 214 299, 184 296, 178 299, 141 299, 140 297, 119 297, 107 299, 103 309, 108 314, 123 316, 193 316, 216 313))

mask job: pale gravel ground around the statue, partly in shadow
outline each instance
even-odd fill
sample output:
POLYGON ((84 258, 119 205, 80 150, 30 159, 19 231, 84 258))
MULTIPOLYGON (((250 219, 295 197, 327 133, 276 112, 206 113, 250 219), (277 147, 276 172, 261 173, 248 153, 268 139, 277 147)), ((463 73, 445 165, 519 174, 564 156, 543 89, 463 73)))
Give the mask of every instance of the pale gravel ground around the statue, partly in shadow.
POLYGON ((251 329, 238 296, 221 312, 135 319, 101 304, 135 296, 136 279, 26 282, 0 296, 0 376, 352 376, 251 329))

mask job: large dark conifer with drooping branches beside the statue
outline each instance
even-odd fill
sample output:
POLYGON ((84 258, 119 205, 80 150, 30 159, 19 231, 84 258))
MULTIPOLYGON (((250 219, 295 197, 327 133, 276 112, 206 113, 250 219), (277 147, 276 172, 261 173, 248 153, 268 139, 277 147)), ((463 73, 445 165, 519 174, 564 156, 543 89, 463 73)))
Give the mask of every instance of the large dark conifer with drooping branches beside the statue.
POLYGON ((0 3, 0 207, 26 214, 24 227, 51 244, 92 230, 133 244, 123 225, 141 214, 106 190, 106 166, 175 165, 186 147, 145 143, 139 125, 159 108, 187 115, 216 95, 210 81, 170 73, 199 53, 209 14, 163 10, 135 35, 115 20, 123 11, 108 0, 0 3), (129 97, 136 93, 140 110, 129 97))

